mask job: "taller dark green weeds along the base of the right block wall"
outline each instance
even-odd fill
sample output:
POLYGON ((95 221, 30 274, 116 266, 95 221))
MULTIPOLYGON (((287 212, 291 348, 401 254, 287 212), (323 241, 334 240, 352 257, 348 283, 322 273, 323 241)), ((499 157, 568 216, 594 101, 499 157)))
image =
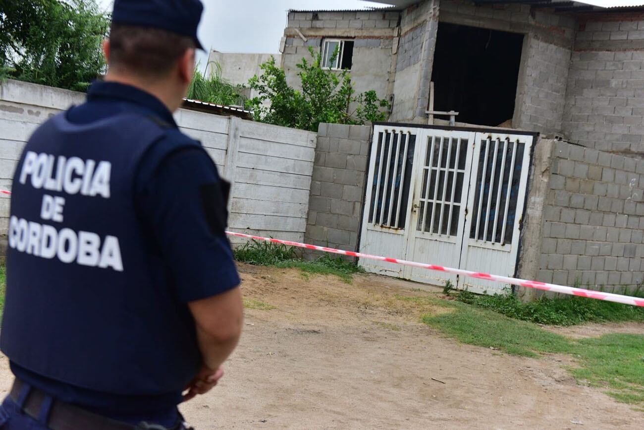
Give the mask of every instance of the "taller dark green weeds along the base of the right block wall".
POLYGON ((507 317, 549 326, 574 326, 585 322, 644 322, 644 308, 585 297, 544 297, 524 303, 511 294, 486 296, 462 291, 458 300, 507 317))

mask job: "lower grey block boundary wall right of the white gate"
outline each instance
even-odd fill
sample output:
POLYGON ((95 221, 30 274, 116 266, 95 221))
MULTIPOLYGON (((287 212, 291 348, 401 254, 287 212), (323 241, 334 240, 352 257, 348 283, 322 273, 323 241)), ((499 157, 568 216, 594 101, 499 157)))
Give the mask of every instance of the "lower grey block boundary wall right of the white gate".
POLYGON ((537 279, 590 288, 644 281, 644 161, 556 142, 537 279))

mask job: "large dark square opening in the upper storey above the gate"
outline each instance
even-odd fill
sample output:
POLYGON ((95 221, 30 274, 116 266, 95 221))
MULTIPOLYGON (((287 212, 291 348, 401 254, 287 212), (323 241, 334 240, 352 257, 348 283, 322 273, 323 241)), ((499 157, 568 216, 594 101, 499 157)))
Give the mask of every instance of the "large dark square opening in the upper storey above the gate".
POLYGON ((456 121, 508 126, 515 111, 522 34, 439 23, 431 80, 434 110, 456 121))

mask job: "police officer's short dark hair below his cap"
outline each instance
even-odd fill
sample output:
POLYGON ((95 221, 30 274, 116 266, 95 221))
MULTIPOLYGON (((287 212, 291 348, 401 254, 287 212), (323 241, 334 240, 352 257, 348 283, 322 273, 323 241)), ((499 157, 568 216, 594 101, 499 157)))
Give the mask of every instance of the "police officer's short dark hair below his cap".
POLYGON ((163 77, 193 39, 159 28, 112 23, 109 31, 109 66, 146 77, 163 77))

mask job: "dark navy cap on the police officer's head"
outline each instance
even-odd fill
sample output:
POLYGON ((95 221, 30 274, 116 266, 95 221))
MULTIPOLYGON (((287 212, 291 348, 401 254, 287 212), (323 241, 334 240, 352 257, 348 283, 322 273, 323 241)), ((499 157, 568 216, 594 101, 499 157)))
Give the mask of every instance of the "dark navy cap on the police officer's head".
POLYGON ((194 39, 196 47, 204 49, 197 39, 197 26, 204 5, 199 0, 115 0, 112 22, 160 28, 194 39))

